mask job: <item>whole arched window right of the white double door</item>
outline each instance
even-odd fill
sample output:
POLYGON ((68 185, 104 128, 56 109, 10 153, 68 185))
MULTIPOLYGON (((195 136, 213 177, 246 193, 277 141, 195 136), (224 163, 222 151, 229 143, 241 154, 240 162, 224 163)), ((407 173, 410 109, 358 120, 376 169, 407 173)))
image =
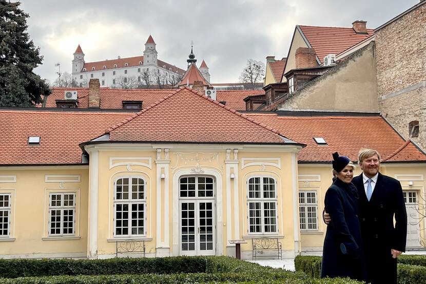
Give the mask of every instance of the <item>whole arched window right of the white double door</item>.
POLYGON ((249 234, 278 233, 276 181, 272 177, 251 177, 247 182, 249 234))

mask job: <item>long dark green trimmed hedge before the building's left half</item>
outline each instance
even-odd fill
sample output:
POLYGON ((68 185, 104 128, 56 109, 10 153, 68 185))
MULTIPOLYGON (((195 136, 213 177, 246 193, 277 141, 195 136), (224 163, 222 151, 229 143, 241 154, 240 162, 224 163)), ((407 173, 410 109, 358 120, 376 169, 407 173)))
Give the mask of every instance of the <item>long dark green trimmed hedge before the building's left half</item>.
POLYGON ((0 259, 0 277, 206 272, 205 257, 0 259))

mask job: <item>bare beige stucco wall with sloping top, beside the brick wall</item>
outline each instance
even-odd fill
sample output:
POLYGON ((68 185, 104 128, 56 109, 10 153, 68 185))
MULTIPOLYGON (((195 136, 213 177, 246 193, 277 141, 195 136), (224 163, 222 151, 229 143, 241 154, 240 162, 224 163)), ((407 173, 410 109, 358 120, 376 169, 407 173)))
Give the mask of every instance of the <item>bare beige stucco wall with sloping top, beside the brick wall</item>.
POLYGON ((297 91, 278 109, 377 112, 374 44, 297 91))

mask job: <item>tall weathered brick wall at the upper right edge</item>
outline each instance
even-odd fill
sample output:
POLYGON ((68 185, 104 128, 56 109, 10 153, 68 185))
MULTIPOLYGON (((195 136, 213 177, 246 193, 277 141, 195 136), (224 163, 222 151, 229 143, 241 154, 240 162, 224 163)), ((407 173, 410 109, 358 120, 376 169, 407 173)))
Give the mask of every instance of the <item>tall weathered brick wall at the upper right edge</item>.
POLYGON ((376 60, 379 111, 408 139, 409 123, 419 121, 419 137, 426 149, 426 4, 377 30, 376 60))

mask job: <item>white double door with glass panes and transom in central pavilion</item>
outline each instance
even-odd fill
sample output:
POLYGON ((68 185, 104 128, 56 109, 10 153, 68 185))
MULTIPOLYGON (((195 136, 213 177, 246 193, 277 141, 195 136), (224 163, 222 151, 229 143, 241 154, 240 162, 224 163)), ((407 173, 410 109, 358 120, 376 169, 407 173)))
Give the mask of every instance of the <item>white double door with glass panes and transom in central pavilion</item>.
POLYGON ((180 180, 180 255, 215 255, 214 182, 209 177, 180 180))

